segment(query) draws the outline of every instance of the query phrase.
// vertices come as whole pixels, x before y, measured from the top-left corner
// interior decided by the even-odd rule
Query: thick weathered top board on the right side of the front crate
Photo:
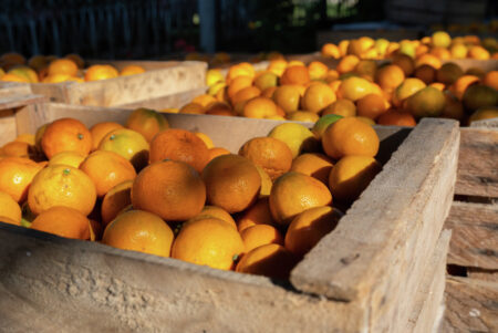
[[[334,232],[292,271],[292,283],[331,299],[366,300],[370,330],[401,330],[391,323],[406,323],[448,215],[458,146],[455,122],[423,119]]]

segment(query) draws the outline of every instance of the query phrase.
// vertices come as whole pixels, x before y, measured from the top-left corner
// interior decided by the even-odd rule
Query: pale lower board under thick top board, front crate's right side
[[[443,230],[436,249],[427,263],[421,287],[415,295],[415,305],[405,332],[436,332],[444,312],[444,291],[446,282],[446,253],[448,252],[450,230]]]

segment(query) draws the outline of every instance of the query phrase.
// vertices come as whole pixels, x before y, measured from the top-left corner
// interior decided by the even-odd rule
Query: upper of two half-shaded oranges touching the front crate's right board
[[[330,191],[335,199],[354,201],[381,169],[381,165],[373,157],[344,156],[329,175]]]

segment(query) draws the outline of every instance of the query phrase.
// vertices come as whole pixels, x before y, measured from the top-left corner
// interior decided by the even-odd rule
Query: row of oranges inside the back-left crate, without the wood
[[[53,55],[34,55],[29,61],[18,53],[0,56],[0,81],[21,83],[87,82],[144,73],[139,65],[127,65],[118,72],[110,64],[96,64],[84,69],[77,54],[58,59]]]

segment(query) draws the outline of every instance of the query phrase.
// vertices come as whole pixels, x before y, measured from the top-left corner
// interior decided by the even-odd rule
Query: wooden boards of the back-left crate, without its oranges
[[[127,64],[137,64],[147,72],[104,81],[33,83],[30,86],[33,93],[48,96],[52,102],[115,106],[206,85],[207,64],[204,62],[116,61],[112,64],[118,70]],[[11,83],[0,82],[0,89],[6,84],[10,85]]]

